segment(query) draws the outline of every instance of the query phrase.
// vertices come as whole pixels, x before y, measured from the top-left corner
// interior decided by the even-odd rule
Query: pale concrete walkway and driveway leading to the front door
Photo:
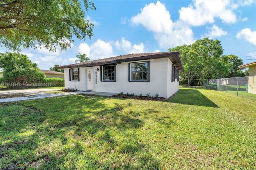
[[[46,91],[56,91],[56,90],[58,89],[25,89],[25,90],[0,91],[0,95],[14,94],[14,93],[24,93],[28,95],[33,95],[30,97],[14,97],[14,98],[8,98],[8,99],[0,99],[0,103],[31,100],[31,99],[41,99],[46,97],[58,97],[58,96],[66,96],[66,95],[74,95],[74,94],[101,95],[101,96],[112,96],[112,95],[118,94],[118,93],[105,93],[105,92],[96,92],[96,91],[75,91],[70,93],[58,93],[58,94],[52,94],[52,93],[46,92]]]

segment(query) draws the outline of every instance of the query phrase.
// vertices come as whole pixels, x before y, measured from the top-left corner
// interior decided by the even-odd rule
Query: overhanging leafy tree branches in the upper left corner
[[[83,0],[85,10],[94,3]],[[19,50],[21,46],[62,50],[79,39],[91,38],[93,24],[85,20],[80,0],[1,0],[0,45]]]

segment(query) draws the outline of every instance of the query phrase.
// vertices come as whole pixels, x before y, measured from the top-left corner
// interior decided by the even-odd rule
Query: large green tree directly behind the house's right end
[[[180,51],[184,65],[184,73],[180,75],[188,79],[188,86],[195,77],[206,80],[225,77],[228,73],[228,67],[221,57],[223,48],[219,40],[204,38],[191,45],[177,46],[168,50]]]

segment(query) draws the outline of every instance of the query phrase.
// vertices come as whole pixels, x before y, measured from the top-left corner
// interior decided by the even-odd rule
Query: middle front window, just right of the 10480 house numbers
[[[101,81],[116,81],[116,65],[101,66]]]

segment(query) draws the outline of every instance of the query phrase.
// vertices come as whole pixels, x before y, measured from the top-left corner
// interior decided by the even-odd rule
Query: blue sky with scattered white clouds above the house
[[[224,55],[244,63],[256,61],[256,0],[95,0],[86,12],[94,24],[91,40],[77,40],[71,49],[22,49],[40,69],[128,53],[164,52],[209,37],[220,40]],[[9,51],[0,47],[0,52]],[[253,60],[254,59],[254,60]]]

